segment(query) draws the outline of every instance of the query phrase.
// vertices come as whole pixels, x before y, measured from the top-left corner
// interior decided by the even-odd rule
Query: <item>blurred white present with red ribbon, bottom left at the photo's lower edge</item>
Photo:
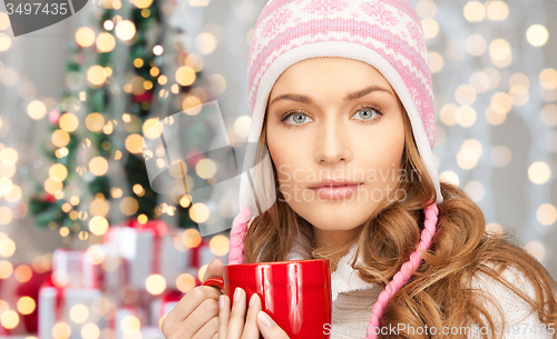
[[[69,288],[45,281],[39,290],[39,339],[82,338],[81,331],[107,327],[101,308],[102,292],[96,288]]]

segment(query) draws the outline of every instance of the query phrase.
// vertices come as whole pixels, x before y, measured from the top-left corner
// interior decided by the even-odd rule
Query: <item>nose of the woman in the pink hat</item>
[[[350,132],[341,119],[325,119],[315,136],[315,162],[335,164],[352,160]]]

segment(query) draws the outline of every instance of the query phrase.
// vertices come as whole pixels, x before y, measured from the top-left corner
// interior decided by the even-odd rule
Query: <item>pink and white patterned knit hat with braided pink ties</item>
[[[431,150],[436,112],[429,57],[416,10],[408,0],[268,1],[253,30],[250,50],[252,126],[247,142],[260,140],[268,96],[282,72],[301,60],[315,57],[343,57],[367,62],[383,74],[399,96],[410,118],[418,151],[437,190],[436,203],[426,210],[426,227],[419,243],[419,248],[428,249],[437,225],[437,205],[443,200]],[[255,154],[246,153],[245,157],[246,161],[253,161]],[[228,263],[244,262],[247,223],[257,211],[245,175],[241,179],[240,208],[231,230]],[[417,250],[380,296],[371,325],[379,325],[387,301],[410,278],[407,268],[416,269],[420,262],[421,253]]]

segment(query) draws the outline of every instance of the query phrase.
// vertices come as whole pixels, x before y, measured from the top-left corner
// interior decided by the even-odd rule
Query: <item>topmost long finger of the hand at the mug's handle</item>
[[[218,300],[222,292],[209,286],[198,286],[187,292],[178,303],[168,312],[163,320],[163,328],[172,330],[179,326],[184,319],[188,318],[192,312],[205,300]],[[218,308],[217,308],[218,311]]]

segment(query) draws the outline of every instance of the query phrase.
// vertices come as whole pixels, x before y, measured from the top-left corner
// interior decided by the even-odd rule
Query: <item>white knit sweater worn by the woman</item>
[[[331,273],[333,300],[332,323],[330,326],[324,326],[324,331],[331,333],[331,339],[364,338],[373,303],[378,300],[379,295],[384,289],[379,285],[363,281],[362,279],[360,279],[358,272],[352,269],[350,263],[354,259],[356,247],[356,243],[351,247],[349,252],[339,260],[336,269]],[[286,260],[300,260],[310,258],[311,256],[304,252],[304,250],[301,246],[299,246],[297,242],[294,242]],[[361,262],[361,258],[359,258],[358,262]],[[520,273],[512,266],[509,266],[502,272],[502,276],[514,286],[518,287],[519,290],[525,291],[530,298],[535,297],[532,286],[528,283],[522,273]],[[499,306],[504,311],[505,320],[509,326],[506,331],[504,328],[497,331],[502,333],[504,339],[554,338],[554,336],[550,333],[553,332],[553,330],[546,329],[546,327],[540,323],[538,313],[531,310],[531,307],[528,303],[526,303],[520,297],[518,297],[499,281],[492,279],[489,276],[486,276],[485,273],[478,273],[472,279],[471,288],[488,292],[489,296],[494,298],[494,300],[499,302]],[[499,312],[497,311],[496,307],[489,302],[486,302],[485,307],[489,310],[495,325],[502,325],[502,320],[500,319]],[[544,331],[544,329],[546,330]],[[390,330],[391,333],[395,333],[397,329],[388,329],[385,327],[383,330]],[[420,333],[420,331],[423,331],[423,329],[418,328],[416,328],[414,330],[417,335]],[[480,338],[480,332],[489,332],[488,329],[480,329],[476,325],[463,329],[428,328],[428,333],[432,333],[433,330],[437,330],[438,335],[442,333],[443,330],[452,330],[453,333],[457,333],[457,331],[459,331],[459,333],[462,333],[461,338],[466,337],[468,339]]]

